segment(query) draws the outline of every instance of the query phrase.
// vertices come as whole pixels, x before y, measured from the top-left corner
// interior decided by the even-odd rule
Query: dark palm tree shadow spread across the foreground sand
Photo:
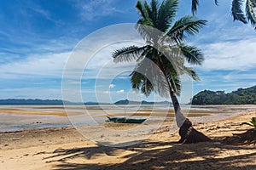
[[[144,148],[144,150],[143,150]],[[145,150],[146,148],[146,150]],[[147,148],[153,148],[147,150]],[[156,148],[156,149],[154,149]],[[134,154],[126,155],[128,158],[119,164],[101,163],[70,163],[74,158],[91,157],[105,153],[108,156],[119,156],[119,151],[134,150]],[[55,170],[74,169],[255,169],[256,162],[242,166],[244,162],[256,160],[256,152],[236,156],[219,156],[224,150],[245,150],[244,146],[232,146],[218,142],[204,142],[199,144],[177,144],[164,142],[148,142],[136,144],[125,148],[109,148],[97,146],[72,150],[55,150],[58,156],[65,159],[57,160]],[[246,150],[253,150],[247,147]],[[49,157],[50,158],[50,157]],[[48,159],[49,159],[48,158]],[[230,163],[231,162],[231,163]]]

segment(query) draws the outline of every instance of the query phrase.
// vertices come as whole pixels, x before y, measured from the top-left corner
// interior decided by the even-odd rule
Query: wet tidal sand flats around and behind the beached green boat
[[[173,122],[175,117],[172,108],[167,111],[161,105],[155,108],[144,105],[138,110],[133,105],[130,107],[130,110],[129,106],[126,109],[126,116],[144,117],[148,119],[148,123]],[[95,121],[102,124],[107,116],[124,116],[122,109],[111,109],[108,105],[103,105],[102,108],[90,105],[86,110],[77,105],[67,107],[67,111],[63,105],[0,105],[0,133],[42,127],[93,125]],[[183,114],[192,122],[201,123],[218,121],[247,111],[256,111],[256,105],[192,105],[189,110],[183,109]]]

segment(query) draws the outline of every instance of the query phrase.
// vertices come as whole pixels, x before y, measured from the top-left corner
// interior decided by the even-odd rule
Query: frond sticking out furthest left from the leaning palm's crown
[[[137,46],[119,48],[115,50],[112,54],[113,62],[118,63],[122,61],[131,61],[138,59],[141,54],[143,54],[145,48],[147,48],[147,46],[143,46],[141,48]]]

